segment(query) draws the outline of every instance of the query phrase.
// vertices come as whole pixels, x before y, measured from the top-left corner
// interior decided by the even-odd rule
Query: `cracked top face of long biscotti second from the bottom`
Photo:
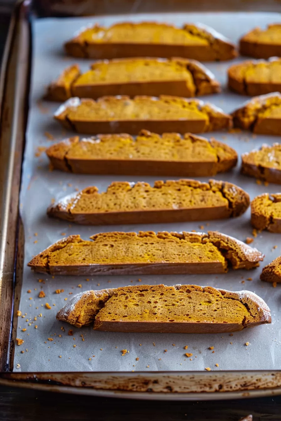
[[[89,240],[70,235],[37,254],[28,266],[49,272],[53,266],[220,262],[224,271],[259,266],[263,254],[217,231],[104,232]]]

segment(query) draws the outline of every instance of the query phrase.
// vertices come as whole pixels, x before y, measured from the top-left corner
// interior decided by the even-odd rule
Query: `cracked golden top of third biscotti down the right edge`
[[[236,127],[254,131],[255,125],[262,119],[273,117],[281,119],[281,93],[271,92],[254,96],[242,107],[232,112]]]

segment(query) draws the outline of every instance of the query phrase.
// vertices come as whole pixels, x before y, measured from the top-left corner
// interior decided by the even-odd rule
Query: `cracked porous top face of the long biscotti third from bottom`
[[[249,206],[249,195],[235,184],[217,180],[209,180],[208,183],[190,179],[159,180],[153,187],[140,181],[114,181],[106,192],[99,193],[98,188],[93,186],[64,197],[48,208],[48,215],[221,206],[229,210],[229,217],[240,216]]]

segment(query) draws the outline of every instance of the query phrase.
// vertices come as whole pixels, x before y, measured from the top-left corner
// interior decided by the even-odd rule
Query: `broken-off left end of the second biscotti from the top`
[[[49,101],[66,101],[72,97],[73,82],[80,76],[78,64],[64,69],[61,75],[48,88],[45,99]]]

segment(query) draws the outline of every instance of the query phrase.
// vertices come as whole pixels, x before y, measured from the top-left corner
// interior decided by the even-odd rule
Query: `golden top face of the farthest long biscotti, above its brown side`
[[[181,28],[158,22],[120,22],[110,27],[95,24],[82,28],[65,44],[65,49],[68,54],[76,56],[72,46],[79,45],[80,56],[88,56],[87,46],[99,44],[194,45],[209,48],[213,60],[229,60],[237,56],[235,45],[230,40],[201,23],[184,24]]]

